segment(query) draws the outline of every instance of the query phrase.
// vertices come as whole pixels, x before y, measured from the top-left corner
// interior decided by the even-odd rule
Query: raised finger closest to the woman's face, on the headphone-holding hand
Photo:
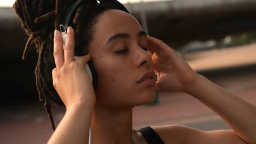
[[[67,28],[67,41],[64,49],[65,63],[71,63],[74,61],[74,29]]]

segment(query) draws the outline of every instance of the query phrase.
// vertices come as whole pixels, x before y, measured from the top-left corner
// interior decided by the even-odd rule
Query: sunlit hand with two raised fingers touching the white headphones
[[[91,56],[79,57],[74,61],[74,30],[68,27],[67,42],[63,50],[62,37],[55,31],[53,85],[61,100],[68,107],[75,104],[95,104],[95,93],[85,65]]]

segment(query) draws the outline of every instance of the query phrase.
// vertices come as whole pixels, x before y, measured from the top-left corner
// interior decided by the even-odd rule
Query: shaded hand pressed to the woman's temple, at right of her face
[[[158,75],[159,92],[184,92],[198,76],[187,62],[159,39],[148,36],[148,49]]]

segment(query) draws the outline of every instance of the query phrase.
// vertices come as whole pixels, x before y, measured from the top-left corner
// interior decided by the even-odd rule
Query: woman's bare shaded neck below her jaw
[[[94,143],[133,143],[132,108],[96,104],[91,119],[91,144]]]

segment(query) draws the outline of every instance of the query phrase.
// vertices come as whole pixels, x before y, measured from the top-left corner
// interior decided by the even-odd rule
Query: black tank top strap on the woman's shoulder
[[[141,128],[138,131],[144,136],[148,144],[165,144],[151,127]]]

